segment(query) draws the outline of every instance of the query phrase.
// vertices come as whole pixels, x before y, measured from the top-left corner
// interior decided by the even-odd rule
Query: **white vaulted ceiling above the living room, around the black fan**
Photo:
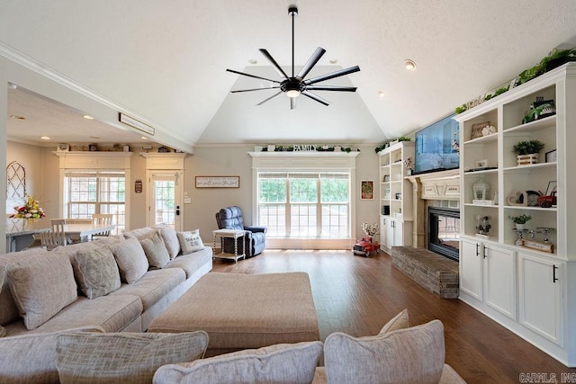
[[[0,3],[4,48],[127,106],[191,146],[382,142],[437,121],[556,46],[576,46],[573,0]],[[260,48],[291,70],[290,4],[299,8],[296,67],[320,46],[327,53],[309,77],[358,65],[360,72],[322,83],[354,85],[356,94],[318,92],[328,107],[300,97],[293,111],[284,95],[256,106],[274,90],[229,94],[270,84],[226,68],[279,79]],[[415,71],[402,67],[406,58],[416,61]],[[20,135],[11,125],[9,137]],[[73,133],[78,129],[67,131]],[[74,138],[58,141],[91,141]]]

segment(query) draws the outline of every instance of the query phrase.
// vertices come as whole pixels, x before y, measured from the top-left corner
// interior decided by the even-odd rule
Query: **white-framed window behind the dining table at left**
[[[116,230],[124,229],[124,172],[67,172],[64,186],[67,219],[92,219],[94,213],[112,213]]]

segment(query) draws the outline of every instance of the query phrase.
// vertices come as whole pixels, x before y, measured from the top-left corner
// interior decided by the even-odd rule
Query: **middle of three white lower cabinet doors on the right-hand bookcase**
[[[508,249],[484,243],[484,302],[516,320],[516,258]]]

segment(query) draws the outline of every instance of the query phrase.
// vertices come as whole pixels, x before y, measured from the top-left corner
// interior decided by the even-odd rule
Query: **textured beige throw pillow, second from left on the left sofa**
[[[96,299],[120,288],[118,265],[107,246],[76,252],[72,267],[80,290],[88,299]]]

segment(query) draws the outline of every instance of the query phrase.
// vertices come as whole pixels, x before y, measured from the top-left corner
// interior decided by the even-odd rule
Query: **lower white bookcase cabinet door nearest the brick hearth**
[[[460,290],[482,301],[482,244],[461,240]]]

